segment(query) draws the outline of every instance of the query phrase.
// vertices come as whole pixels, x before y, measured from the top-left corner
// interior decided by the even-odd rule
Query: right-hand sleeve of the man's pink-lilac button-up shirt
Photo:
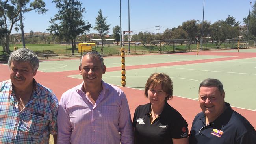
[[[133,144],[134,133],[129,105],[125,94],[121,93],[121,108],[119,112],[119,132],[121,135],[121,144]]]

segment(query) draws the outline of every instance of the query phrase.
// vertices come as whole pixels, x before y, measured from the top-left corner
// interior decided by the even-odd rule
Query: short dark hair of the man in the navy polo
[[[224,92],[223,84],[218,79],[205,79],[204,81],[202,81],[202,83],[200,83],[199,90],[201,87],[217,87],[221,94],[223,94]]]

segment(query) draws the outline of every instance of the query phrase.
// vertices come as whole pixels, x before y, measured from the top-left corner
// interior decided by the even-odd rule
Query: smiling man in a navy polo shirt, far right
[[[254,127],[225,103],[222,83],[205,79],[199,86],[202,112],[195,116],[189,144],[256,144]]]

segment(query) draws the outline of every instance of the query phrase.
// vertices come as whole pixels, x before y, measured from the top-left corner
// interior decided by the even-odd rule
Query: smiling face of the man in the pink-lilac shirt
[[[83,81],[86,85],[101,87],[102,75],[106,72],[106,66],[101,64],[98,57],[85,55],[79,66],[80,74],[83,76]]]

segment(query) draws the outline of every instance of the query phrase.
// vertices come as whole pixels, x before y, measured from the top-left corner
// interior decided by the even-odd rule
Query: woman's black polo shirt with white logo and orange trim
[[[187,138],[187,122],[167,102],[151,124],[151,103],[136,108],[133,118],[135,144],[173,144],[172,138]]]

